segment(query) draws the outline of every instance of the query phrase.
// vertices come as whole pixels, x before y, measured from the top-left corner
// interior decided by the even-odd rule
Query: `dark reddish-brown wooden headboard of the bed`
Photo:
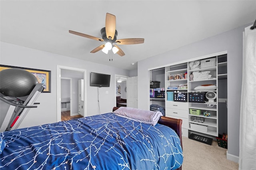
[[[113,107],[113,111],[117,110],[118,108],[119,107]],[[172,128],[178,134],[180,138],[180,144],[182,147],[182,133],[181,133],[182,119],[174,119],[170,117],[161,116],[158,123]]]

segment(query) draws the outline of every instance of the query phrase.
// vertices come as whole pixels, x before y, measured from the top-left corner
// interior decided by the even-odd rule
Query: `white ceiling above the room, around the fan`
[[[2,42],[132,70],[137,61],[254,22],[256,0],[1,0],[0,10]],[[145,42],[119,45],[126,55],[111,56],[90,53],[101,42],[68,33],[101,38],[107,12],[116,16],[117,39]]]

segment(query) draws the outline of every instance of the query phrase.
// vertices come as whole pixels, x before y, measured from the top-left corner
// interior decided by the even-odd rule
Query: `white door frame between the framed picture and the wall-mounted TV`
[[[57,122],[61,121],[61,69],[72,71],[82,71],[84,73],[84,117],[87,116],[87,99],[86,99],[86,69],[78,69],[75,67],[67,67],[63,65],[56,66],[56,103],[57,103]],[[72,93],[72,92],[71,92]],[[70,106],[71,109],[71,106]]]

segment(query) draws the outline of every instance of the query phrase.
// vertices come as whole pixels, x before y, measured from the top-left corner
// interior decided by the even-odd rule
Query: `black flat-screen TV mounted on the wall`
[[[90,86],[109,87],[110,75],[91,72]]]

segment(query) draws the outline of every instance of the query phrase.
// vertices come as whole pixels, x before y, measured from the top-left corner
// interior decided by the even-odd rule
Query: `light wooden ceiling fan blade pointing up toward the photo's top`
[[[107,38],[113,40],[116,33],[116,16],[107,13],[105,27]]]

